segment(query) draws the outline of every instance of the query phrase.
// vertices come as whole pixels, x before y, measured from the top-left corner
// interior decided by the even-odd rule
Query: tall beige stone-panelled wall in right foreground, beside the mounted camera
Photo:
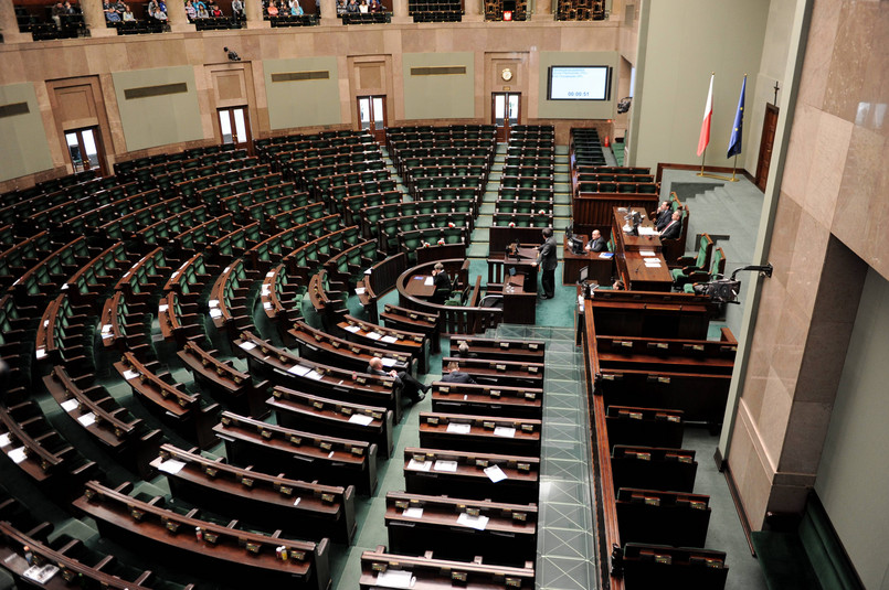
[[[728,454],[753,528],[818,472],[868,267],[889,277],[889,4],[815,0]],[[882,423],[889,416],[883,417]]]

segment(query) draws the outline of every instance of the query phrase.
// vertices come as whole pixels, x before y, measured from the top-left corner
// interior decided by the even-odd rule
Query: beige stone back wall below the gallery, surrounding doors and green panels
[[[124,117],[117,105],[113,74],[131,71],[150,71],[163,68],[190,67],[197,83],[198,105],[200,107],[201,138],[191,133],[178,143],[165,147],[167,150],[179,150],[202,143],[218,142],[218,122],[214,109],[219,106],[213,81],[209,72],[227,63],[223,47],[236,51],[245,62],[250,62],[251,125],[254,138],[268,137],[287,132],[292,124],[310,131],[314,128],[353,128],[357,112],[354,94],[357,87],[354,76],[356,64],[368,60],[380,60],[387,64],[385,82],[390,125],[399,125],[414,119],[428,119],[428,112],[405,115],[405,104],[411,97],[405,96],[402,56],[405,54],[465,53],[472,57],[472,83],[467,93],[474,99],[464,99],[458,111],[461,120],[476,122],[490,121],[490,92],[496,92],[497,79],[494,78],[493,63],[498,56],[519,55],[522,62],[523,79],[528,84],[522,100],[525,122],[538,118],[538,56],[540,52],[614,52],[617,49],[617,30],[620,22],[570,22],[557,23],[551,20],[532,22],[485,23],[463,22],[458,24],[387,24],[362,26],[313,26],[297,29],[247,29],[241,31],[213,32],[174,32],[156,35],[125,35],[102,39],[76,39],[49,42],[28,42],[20,44],[0,44],[0,87],[14,84],[32,84],[38,97],[38,105],[47,128],[46,142],[51,153],[50,162],[40,164],[41,172],[28,179],[19,176],[18,170],[10,169],[9,174],[0,173],[0,191],[10,190],[13,185],[33,184],[39,176],[45,180],[70,172],[65,152],[55,132],[53,112],[50,105],[46,82],[63,81],[76,77],[97,77],[100,94],[105,98],[107,126],[103,129],[107,135],[105,148],[109,162],[118,158],[127,159],[135,151],[142,153],[155,151],[151,141],[136,142],[127,146]],[[311,109],[322,111],[324,120],[310,121],[299,110],[290,110],[281,118],[277,109],[288,104],[287,93],[267,90],[268,73],[265,64],[279,64],[282,61],[303,62],[322,60],[335,61],[336,78],[325,87],[321,98],[313,96],[307,104]],[[286,83],[285,83],[286,84]],[[293,84],[292,84],[293,85]],[[334,90],[335,89],[335,90]],[[546,88],[543,89],[546,93]],[[466,101],[468,100],[468,101]],[[527,105],[526,105],[527,104]],[[124,109],[126,110],[126,109]],[[335,115],[338,112],[338,117]],[[452,117],[455,117],[452,114]],[[552,118],[552,117],[549,117]],[[610,117],[607,117],[610,118]],[[313,122],[310,127],[306,127]],[[575,121],[583,124],[584,121]],[[569,126],[564,119],[561,126]],[[284,127],[282,127],[284,126]],[[135,149],[134,149],[135,148]],[[35,160],[38,161],[38,160]],[[0,164],[2,165],[2,164]],[[3,172],[0,170],[0,172]],[[33,172],[25,171],[25,172]]]

